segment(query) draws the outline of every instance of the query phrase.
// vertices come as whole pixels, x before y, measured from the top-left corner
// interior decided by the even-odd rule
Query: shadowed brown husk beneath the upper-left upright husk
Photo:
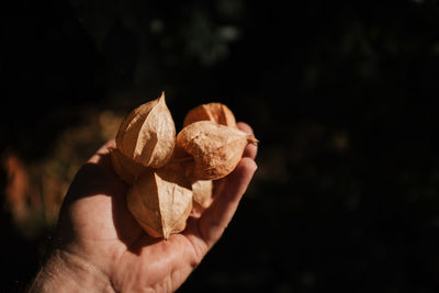
[[[136,178],[147,169],[145,166],[125,157],[116,148],[110,149],[110,156],[114,171],[128,185],[132,185]]]

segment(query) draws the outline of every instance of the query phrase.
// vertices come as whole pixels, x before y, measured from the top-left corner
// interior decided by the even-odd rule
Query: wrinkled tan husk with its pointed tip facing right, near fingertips
[[[211,121],[199,121],[177,135],[177,145],[193,157],[191,180],[215,180],[230,173],[254,135]],[[188,173],[188,172],[187,172]]]

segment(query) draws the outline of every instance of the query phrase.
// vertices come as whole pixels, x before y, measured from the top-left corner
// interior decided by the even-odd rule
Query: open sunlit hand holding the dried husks
[[[238,123],[251,133],[250,126]],[[56,245],[31,292],[173,292],[200,263],[230,222],[257,169],[248,145],[236,169],[201,217],[168,240],[148,236],[126,207],[125,185],[104,145],[79,170],[59,213]],[[217,185],[222,188],[216,188]]]

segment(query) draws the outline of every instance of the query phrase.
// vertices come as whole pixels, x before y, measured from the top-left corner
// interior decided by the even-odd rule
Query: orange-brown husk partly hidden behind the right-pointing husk
[[[222,125],[236,127],[235,115],[223,103],[207,103],[190,110],[184,117],[183,127],[198,121],[212,121]]]

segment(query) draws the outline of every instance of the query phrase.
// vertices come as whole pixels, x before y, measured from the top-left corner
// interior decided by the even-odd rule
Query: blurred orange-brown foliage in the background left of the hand
[[[38,161],[25,164],[13,153],[3,158],[5,209],[24,237],[38,237],[54,227],[75,173],[101,144],[114,137],[122,121],[112,111],[85,115],[85,122],[65,129],[53,153]]]

